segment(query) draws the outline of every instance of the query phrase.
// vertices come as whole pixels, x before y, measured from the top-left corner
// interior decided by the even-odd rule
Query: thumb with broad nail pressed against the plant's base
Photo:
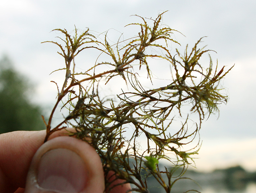
[[[102,193],[100,157],[88,143],[61,136],[45,142],[35,153],[25,193]]]

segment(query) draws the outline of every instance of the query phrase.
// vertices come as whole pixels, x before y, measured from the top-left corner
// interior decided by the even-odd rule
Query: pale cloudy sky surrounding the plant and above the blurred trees
[[[157,2],[157,3],[156,3]],[[138,22],[143,17],[164,15],[164,23],[182,32],[175,39],[182,45],[194,45],[201,37],[202,46],[217,52],[213,61],[232,71],[223,81],[230,100],[203,124],[203,145],[196,167],[212,170],[241,164],[256,170],[255,95],[256,74],[256,1],[254,0],[9,0],[0,6],[0,55],[8,55],[14,66],[36,86],[35,102],[54,103],[56,87],[49,74],[62,65],[57,46],[40,44],[57,36],[51,32],[65,28],[105,32]],[[111,30],[110,30],[111,32]],[[112,32],[115,32],[112,30]],[[137,35],[137,32],[133,35]],[[182,49],[179,49],[182,51]]]

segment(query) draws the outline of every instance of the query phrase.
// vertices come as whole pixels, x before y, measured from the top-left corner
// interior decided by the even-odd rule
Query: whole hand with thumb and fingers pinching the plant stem
[[[0,192],[103,193],[104,172],[99,155],[88,143],[64,134],[55,132],[44,144],[45,131],[1,134]],[[115,184],[120,182],[116,180]],[[129,189],[129,184],[123,184],[110,193]]]

